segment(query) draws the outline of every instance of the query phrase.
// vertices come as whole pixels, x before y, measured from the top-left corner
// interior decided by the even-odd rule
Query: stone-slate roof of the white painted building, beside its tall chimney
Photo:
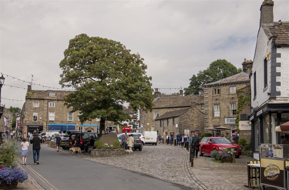
[[[268,38],[273,37],[277,45],[289,45],[289,22],[274,22],[274,25],[262,25]]]

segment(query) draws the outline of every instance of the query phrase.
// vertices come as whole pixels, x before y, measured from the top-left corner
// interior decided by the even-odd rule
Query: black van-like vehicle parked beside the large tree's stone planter
[[[74,136],[77,140],[75,147],[80,147],[81,150],[84,150],[84,145],[90,141],[90,136],[92,136],[95,141],[100,139],[99,134],[96,132],[71,132],[69,134],[69,138],[65,140],[65,144],[68,149],[71,147],[72,136]]]

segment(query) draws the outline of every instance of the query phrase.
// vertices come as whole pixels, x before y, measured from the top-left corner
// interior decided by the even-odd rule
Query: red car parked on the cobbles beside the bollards
[[[213,150],[223,151],[225,149],[231,149],[236,158],[242,155],[241,148],[224,137],[206,137],[203,138],[201,142],[200,156],[211,154]]]

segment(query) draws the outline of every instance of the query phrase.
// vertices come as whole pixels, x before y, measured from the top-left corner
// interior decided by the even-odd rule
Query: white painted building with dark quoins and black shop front
[[[289,121],[289,22],[273,21],[272,0],[261,5],[260,29],[251,80],[252,144],[259,159],[260,143],[281,144],[285,134],[275,126]]]

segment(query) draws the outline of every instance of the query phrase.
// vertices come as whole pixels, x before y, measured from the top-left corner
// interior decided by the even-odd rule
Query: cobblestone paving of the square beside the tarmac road
[[[67,150],[60,152],[69,154]],[[76,156],[201,190],[248,190],[244,187],[248,183],[247,162],[253,161],[253,158],[241,156],[236,158],[236,163],[215,163],[209,155],[204,155],[195,158],[194,167],[190,167],[189,152],[185,148],[162,144],[145,145],[141,152],[125,156]]]

